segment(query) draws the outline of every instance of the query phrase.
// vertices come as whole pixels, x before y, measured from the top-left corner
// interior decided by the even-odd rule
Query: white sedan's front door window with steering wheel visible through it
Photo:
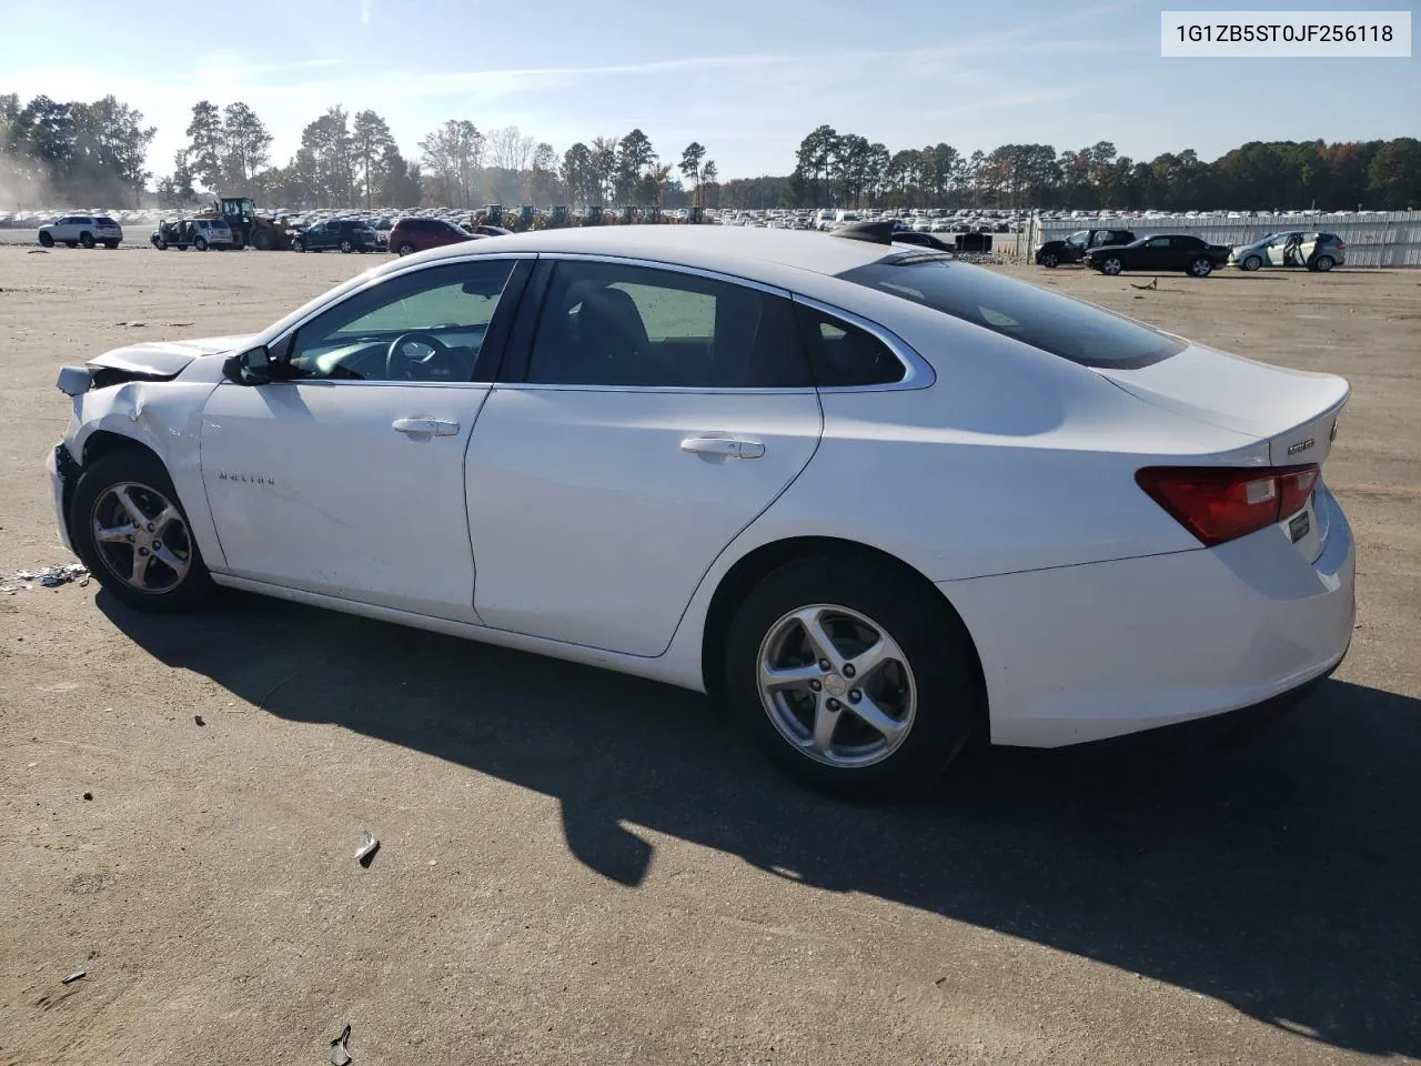
[[[490,257],[396,274],[297,330],[287,361],[298,378],[470,381],[513,266]]]

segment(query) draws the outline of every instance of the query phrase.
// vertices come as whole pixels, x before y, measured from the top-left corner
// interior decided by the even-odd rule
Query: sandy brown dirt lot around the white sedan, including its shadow
[[[0,574],[65,561],[61,362],[369,266],[0,247]],[[1358,628],[1297,712],[850,807],[685,692],[244,596],[0,593],[0,1063],[321,1063],[347,1022],[361,1065],[1421,1053],[1421,274],[1020,273],[1351,379]]]

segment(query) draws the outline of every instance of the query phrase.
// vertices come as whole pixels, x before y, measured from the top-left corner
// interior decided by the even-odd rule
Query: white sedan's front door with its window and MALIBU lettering
[[[381,279],[274,345],[293,379],[217,387],[202,476],[230,573],[476,620],[463,458],[514,263]]]

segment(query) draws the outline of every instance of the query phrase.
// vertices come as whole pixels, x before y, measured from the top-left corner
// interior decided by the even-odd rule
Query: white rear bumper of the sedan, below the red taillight
[[[1215,549],[946,581],[982,658],[992,741],[1059,748],[1268,704],[1341,662],[1351,530],[1330,493],[1309,563],[1269,527]]]

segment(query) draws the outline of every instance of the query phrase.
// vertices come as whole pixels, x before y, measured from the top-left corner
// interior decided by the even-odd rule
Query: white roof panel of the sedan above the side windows
[[[827,233],[726,226],[578,226],[513,233],[468,244],[449,244],[419,253],[423,262],[469,254],[507,252],[583,253],[666,262],[745,277],[772,286],[790,286],[794,274],[840,274],[898,256],[901,249],[865,240],[843,240]],[[409,260],[405,260],[406,263]],[[381,270],[398,269],[401,260]]]

